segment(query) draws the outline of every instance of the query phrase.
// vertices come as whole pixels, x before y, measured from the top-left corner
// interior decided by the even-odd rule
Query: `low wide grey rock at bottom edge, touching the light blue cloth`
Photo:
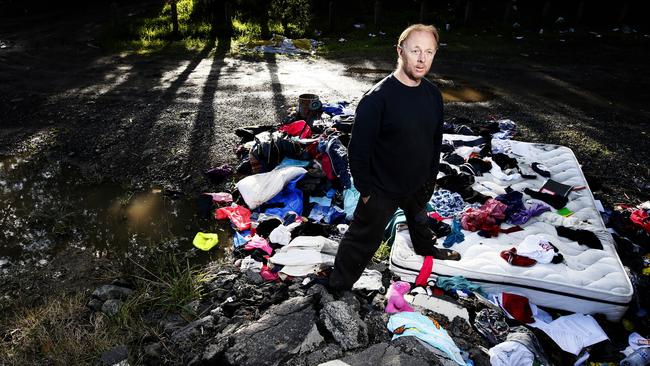
[[[409,365],[454,366],[456,362],[442,351],[421,342],[416,337],[400,337],[391,342],[375,344],[360,353],[320,364],[320,366]]]

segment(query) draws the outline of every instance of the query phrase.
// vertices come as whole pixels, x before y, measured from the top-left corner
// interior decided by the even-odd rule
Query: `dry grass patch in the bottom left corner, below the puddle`
[[[154,319],[172,313],[187,320],[197,317],[188,304],[203,296],[203,272],[172,254],[146,267],[132,263],[134,293],[113,317],[87,308],[90,298],[84,293],[54,295],[43,305],[27,304],[3,314],[0,364],[95,364],[102,352],[117,345],[136,349],[144,339],[163,339]]]

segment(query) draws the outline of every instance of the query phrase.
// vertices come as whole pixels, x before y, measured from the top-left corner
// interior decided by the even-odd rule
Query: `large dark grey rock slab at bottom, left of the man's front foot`
[[[312,331],[315,317],[309,297],[295,297],[272,306],[258,321],[232,334],[233,345],[225,352],[226,363],[279,365],[291,351],[300,348]]]

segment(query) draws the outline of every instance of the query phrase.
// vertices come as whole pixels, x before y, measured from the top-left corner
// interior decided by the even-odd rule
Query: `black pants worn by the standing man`
[[[371,196],[367,203],[360,199],[350,227],[339,244],[330,286],[339,290],[352,288],[381,245],[384,229],[398,207],[404,210],[415,252],[434,255],[437,249],[434,233],[428,225],[426,200],[424,192],[398,200],[378,195]]]

